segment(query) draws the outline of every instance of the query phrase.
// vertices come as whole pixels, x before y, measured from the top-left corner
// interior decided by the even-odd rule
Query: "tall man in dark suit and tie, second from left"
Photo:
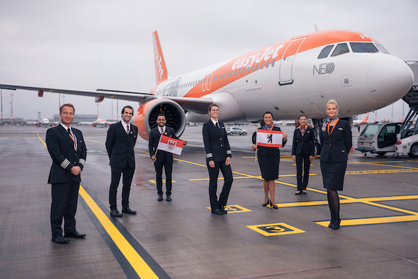
[[[132,178],[135,170],[134,146],[137,142],[138,128],[130,124],[134,109],[129,105],[122,109],[122,120],[111,124],[107,130],[106,150],[109,155],[111,166],[111,183],[109,190],[110,215],[122,217],[116,206],[116,193],[118,192],[119,181],[123,174],[122,188],[122,212],[136,214],[129,207],[129,194]]]

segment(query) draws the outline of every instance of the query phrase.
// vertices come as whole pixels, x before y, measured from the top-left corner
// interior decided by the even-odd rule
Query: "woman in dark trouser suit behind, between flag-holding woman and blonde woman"
[[[295,195],[307,194],[309,167],[315,156],[315,131],[307,125],[307,116],[299,116],[300,126],[293,133],[292,159],[296,162],[297,192]],[[303,165],[303,180],[302,180]]]

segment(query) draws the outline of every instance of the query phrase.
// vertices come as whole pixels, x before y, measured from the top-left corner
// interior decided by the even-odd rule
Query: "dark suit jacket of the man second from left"
[[[125,123],[124,123],[125,125]],[[138,128],[130,124],[130,133],[127,134],[122,121],[111,124],[107,130],[106,150],[109,155],[111,167],[124,168],[129,163],[131,169],[135,168],[134,146],[137,143]]]

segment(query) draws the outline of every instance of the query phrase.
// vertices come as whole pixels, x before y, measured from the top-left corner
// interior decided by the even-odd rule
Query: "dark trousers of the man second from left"
[[[123,168],[111,167],[111,183],[109,190],[109,203],[111,211],[116,209],[116,194],[118,193],[119,181],[121,181],[122,174],[122,208],[125,209],[126,207],[129,207],[130,185],[132,183],[132,178],[134,177],[134,170],[135,169],[129,167],[128,163]]]

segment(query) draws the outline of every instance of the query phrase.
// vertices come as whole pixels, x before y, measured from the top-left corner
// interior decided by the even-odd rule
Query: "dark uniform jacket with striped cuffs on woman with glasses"
[[[232,157],[224,123],[221,121],[218,121],[218,123],[219,128],[213,125],[210,119],[203,124],[202,132],[206,151],[206,163],[211,160],[222,162],[226,160],[226,157]]]

